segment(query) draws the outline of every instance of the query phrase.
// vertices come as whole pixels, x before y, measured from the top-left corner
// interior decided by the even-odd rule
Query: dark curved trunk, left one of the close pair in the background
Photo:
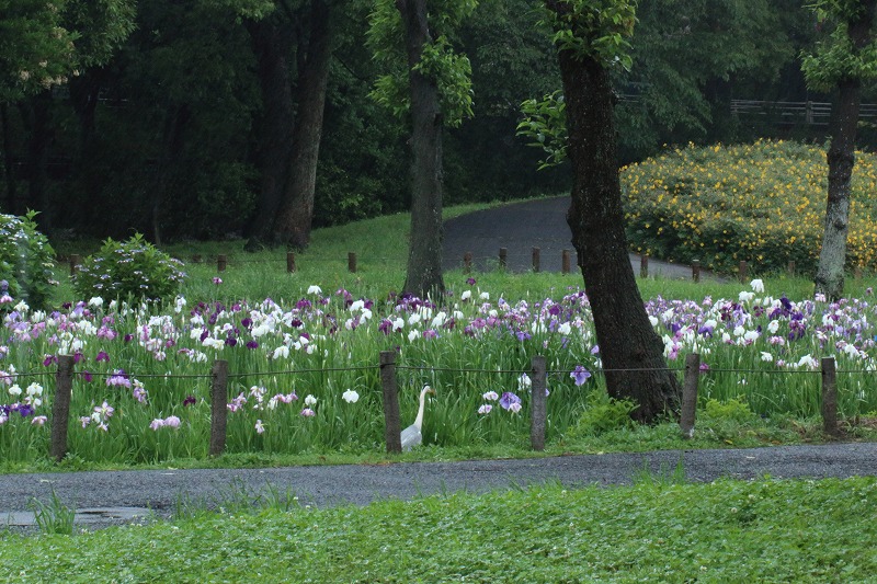
[[[247,251],[258,251],[271,239],[274,214],[283,198],[293,149],[293,90],[289,80],[292,34],[272,20],[248,23],[258,59],[262,90],[262,119],[257,165],[261,173],[259,204],[250,226]]]

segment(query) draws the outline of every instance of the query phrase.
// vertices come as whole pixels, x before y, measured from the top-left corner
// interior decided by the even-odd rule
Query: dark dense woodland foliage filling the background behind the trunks
[[[278,23],[288,45],[278,53],[288,57],[292,91],[299,81],[307,3],[198,0],[183,9],[160,0],[140,2],[136,15],[132,2],[123,0],[56,2],[60,14],[38,2],[4,4],[14,7],[11,16],[2,13],[10,38],[26,36],[27,26],[64,25],[64,39],[75,38],[77,53],[66,56],[55,47],[54,57],[45,59],[43,41],[0,50],[4,90],[9,85],[0,99],[3,213],[39,210],[41,227],[52,237],[75,230],[118,239],[136,230],[150,241],[159,233],[167,241],[248,236],[266,220],[257,217],[259,160],[271,146],[264,128],[272,121],[261,89],[267,79],[260,70],[263,55],[253,34],[265,19]],[[514,136],[520,104],[543,100],[559,87],[550,34],[537,25],[538,4],[481,2],[447,37],[471,66],[475,114],[446,133],[449,204],[568,188],[566,169],[535,172],[538,152]],[[630,70],[618,68],[615,79],[625,161],[652,154],[662,142],[820,134],[804,126],[771,127],[755,116],[736,118],[729,105],[731,98],[822,98],[804,93],[796,60],[812,44],[809,12],[791,0],[714,4],[640,3],[629,39]],[[33,14],[15,20],[25,9]],[[344,10],[350,18],[334,19],[316,226],[409,204],[408,136],[368,96],[385,72],[363,48],[373,7],[351,2]],[[435,57],[436,66],[447,65],[444,51]],[[72,66],[77,77],[68,71]],[[20,87],[22,71],[34,82],[27,91]],[[55,89],[45,91],[37,82],[43,73],[69,82],[53,81]],[[464,102],[457,105],[468,108]]]

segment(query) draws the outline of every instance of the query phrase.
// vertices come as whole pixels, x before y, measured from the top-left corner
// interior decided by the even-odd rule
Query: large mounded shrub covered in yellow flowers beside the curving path
[[[815,273],[825,215],[822,148],[794,141],[676,148],[622,169],[627,237],[653,257],[731,273],[789,261]],[[856,152],[847,267],[877,271],[877,157]]]

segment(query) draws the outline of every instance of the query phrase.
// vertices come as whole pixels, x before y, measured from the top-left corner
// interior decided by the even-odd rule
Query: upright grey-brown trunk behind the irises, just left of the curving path
[[[405,291],[442,300],[442,130],[438,87],[414,66],[431,42],[425,0],[396,0],[402,15],[411,88],[411,241]]]

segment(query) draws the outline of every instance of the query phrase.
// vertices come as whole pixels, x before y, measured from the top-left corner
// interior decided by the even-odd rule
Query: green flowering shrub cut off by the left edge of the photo
[[[58,284],[53,279],[55,250],[37,231],[35,216],[0,215],[0,296],[45,309]]]

